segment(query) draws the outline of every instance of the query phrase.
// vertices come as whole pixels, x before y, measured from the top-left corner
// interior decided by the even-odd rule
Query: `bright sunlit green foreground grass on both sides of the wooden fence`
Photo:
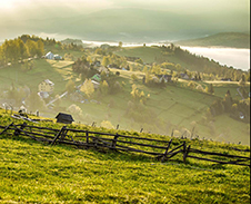
[[[19,123],[0,109],[0,124],[11,122]],[[133,132],[127,132],[130,134]],[[250,156],[232,149],[247,148],[241,145],[188,143],[194,148]],[[192,158],[183,164],[181,155],[160,163],[141,154],[50,146],[7,134],[0,135],[0,203],[250,203],[249,167]]]

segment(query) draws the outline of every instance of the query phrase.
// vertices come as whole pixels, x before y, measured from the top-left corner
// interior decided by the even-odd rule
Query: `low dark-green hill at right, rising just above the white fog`
[[[242,32],[221,32],[205,38],[177,41],[175,45],[192,47],[231,47],[249,48],[250,33]]]

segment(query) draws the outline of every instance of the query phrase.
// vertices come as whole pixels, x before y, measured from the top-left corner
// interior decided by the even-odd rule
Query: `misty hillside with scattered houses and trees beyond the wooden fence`
[[[78,42],[78,43],[77,43]],[[173,43],[127,47],[22,35],[1,45],[3,109],[249,145],[250,71]]]

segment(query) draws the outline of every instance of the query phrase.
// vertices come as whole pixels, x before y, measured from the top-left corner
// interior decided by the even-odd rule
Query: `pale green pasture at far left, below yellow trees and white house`
[[[66,84],[74,74],[71,71],[72,61],[56,61],[37,59],[31,70],[21,70],[20,65],[13,65],[0,69],[0,89],[8,90],[13,84],[16,87],[28,86],[31,90],[38,91],[38,85],[50,79],[54,82],[54,93],[61,94],[66,89]]]

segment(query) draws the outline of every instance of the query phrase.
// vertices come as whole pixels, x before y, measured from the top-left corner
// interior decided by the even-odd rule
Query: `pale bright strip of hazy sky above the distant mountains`
[[[23,12],[24,16],[20,17],[29,14],[36,17],[36,13],[39,17],[40,13],[44,13],[41,8],[46,9],[46,12],[53,12],[56,17],[111,8],[143,8],[183,13],[219,11],[250,13],[250,0],[0,0],[0,2],[2,13],[16,16]]]

